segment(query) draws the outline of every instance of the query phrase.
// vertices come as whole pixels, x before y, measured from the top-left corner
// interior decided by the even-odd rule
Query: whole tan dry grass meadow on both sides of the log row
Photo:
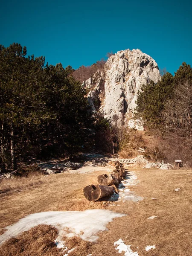
[[[120,238],[125,244],[131,244],[139,256],[192,255],[192,170],[135,169],[140,183],[131,190],[144,200],[137,203],[120,201],[118,206],[104,206],[102,202],[88,202],[83,198],[84,185],[92,183],[104,172],[49,175],[36,188],[8,193],[0,201],[1,228],[29,213],[106,207],[127,215],[109,223],[108,231],[100,233],[96,243],[90,244],[79,238],[68,241],[69,249],[74,244],[76,246],[69,256],[89,253],[92,256],[124,255],[119,254],[113,245]],[[177,187],[181,188],[179,192],[175,192]],[[158,217],[149,220],[152,215]],[[155,245],[156,249],[146,252],[147,245]]]

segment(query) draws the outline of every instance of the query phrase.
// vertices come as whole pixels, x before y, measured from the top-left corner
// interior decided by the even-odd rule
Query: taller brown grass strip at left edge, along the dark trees
[[[19,191],[42,183],[43,174],[41,172],[30,172],[27,177],[13,177],[12,179],[0,180],[0,193],[8,191]]]

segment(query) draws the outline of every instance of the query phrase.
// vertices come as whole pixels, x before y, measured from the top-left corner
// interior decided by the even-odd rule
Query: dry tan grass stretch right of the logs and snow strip
[[[95,244],[97,256],[116,255],[113,242],[119,238],[131,244],[140,256],[191,256],[192,171],[140,169],[136,172],[140,183],[131,190],[144,200],[113,207],[113,211],[125,212],[127,216],[114,219],[108,224],[109,231],[101,233]],[[179,192],[175,192],[177,187],[181,189]],[[152,215],[158,217],[149,220]],[[156,249],[146,252],[147,245],[155,245]]]

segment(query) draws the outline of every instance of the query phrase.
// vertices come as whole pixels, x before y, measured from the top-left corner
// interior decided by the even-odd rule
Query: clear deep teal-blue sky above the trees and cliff
[[[141,49],[161,69],[192,65],[190,0],[1,1],[0,44],[78,68],[107,52]]]

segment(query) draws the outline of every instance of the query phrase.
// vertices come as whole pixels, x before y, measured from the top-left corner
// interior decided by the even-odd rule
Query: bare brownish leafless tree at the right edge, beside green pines
[[[169,161],[192,159],[192,84],[179,83],[163,111],[162,151]]]

